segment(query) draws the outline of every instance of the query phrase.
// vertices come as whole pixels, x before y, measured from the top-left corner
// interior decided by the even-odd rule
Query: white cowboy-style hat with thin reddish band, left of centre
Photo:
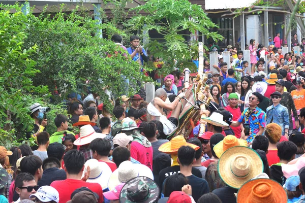
[[[105,138],[106,134],[96,132],[91,125],[84,125],[80,128],[80,137],[74,141],[74,145],[83,146],[90,144],[94,139]]]

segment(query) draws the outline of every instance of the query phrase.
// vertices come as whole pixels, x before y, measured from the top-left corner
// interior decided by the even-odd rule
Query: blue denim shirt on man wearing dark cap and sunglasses
[[[267,108],[267,122],[266,124],[271,123],[271,119],[273,117],[272,123],[277,123],[282,128],[282,135],[285,134],[285,129],[289,129],[289,113],[288,109],[281,104],[275,106],[270,106]]]

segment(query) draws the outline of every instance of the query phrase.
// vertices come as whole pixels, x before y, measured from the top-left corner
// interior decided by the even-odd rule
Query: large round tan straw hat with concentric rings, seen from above
[[[225,151],[218,161],[219,176],[228,186],[235,189],[263,173],[263,170],[262,159],[249,147],[232,147]]]

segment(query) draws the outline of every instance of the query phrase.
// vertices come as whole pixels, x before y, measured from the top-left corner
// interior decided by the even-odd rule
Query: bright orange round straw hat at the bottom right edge
[[[254,179],[243,184],[237,192],[237,203],[287,203],[285,189],[271,179]]]

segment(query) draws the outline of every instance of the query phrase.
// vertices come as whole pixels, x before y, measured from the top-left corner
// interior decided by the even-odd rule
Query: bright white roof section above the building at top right
[[[257,0],[205,0],[205,10],[240,9],[252,6]]]

